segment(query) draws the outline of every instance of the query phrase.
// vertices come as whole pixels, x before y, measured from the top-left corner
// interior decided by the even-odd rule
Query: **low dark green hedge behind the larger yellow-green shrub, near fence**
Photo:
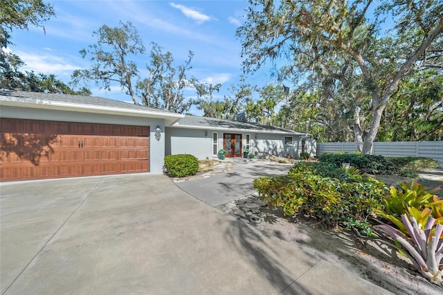
[[[326,152],[320,156],[320,161],[332,163],[337,167],[341,167],[342,163],[350,163],[351,166],[359,169],[362,173],[372,175],[397,175],[400,172],[399,166],[389,158],[373,154],[361,154],[360,152],[336,154]]]

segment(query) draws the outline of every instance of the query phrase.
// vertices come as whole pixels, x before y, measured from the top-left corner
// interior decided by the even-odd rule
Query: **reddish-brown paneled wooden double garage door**
[[[0,180],[149,172],[149,127],[1,118]]]

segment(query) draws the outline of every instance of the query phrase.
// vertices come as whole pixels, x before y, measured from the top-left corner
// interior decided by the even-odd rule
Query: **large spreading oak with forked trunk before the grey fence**
[[[249,2],[237,29],[245,71],[275,62],[281,80],[333,102],[364,153],[401,81],[430,68],[441,73],[441,0]]]

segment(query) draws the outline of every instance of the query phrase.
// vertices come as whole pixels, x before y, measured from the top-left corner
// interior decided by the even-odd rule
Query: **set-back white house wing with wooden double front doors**
[[[225,150],[226,157],[242,157],[245,150],[260,158],[316,154],[316,142],[306,132],[199,116],[185,116],[166,127],[165,141],[166,154],[193,154],[198,159],[217,158],[219,150]]]

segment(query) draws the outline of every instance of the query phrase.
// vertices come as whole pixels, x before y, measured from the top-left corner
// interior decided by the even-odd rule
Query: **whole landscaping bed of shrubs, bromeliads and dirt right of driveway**
[[[406,170],[397,165],[401,159],[360,154],[320,161],[296,163],[286,177],[254,180],[268,204],[260,229],[395,294],[443,294],[441,248],[431,246],[441,238],[442,201],[430,190],[443,185],[442,168]]]

